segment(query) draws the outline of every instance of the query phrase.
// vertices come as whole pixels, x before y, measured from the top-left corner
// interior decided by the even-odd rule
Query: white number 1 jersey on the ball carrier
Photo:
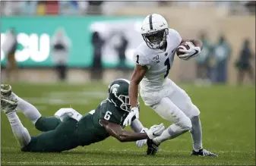
[[[164,83],[167,82],[175,49],[182,42],[182,37],[176,30],[169,29],[166,41],[167,48],[165,52],[160,49],[150,49],[146,42],[142,42],[134,52],[134,62],[148,68],[140,83],[140,87],[144,91],[160,90]]]

